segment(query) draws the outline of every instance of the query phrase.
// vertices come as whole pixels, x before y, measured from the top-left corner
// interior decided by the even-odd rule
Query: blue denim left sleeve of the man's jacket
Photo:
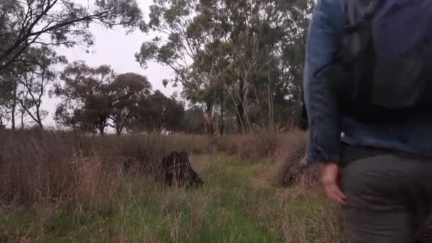
[[[342,43],[345,0],[318,0],[308,28],[303,79],[308,112],[306,163],[340,161],[338,94],[332,84],[341,82],[332,68]],[[305,163],[305,161],[303,161]]]

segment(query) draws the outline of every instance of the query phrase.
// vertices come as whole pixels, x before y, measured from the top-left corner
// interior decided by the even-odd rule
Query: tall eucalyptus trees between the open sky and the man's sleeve
[[[296,119],[301,104],[303,43],[313,3],[155,1],[141,29],[161,36],[144,43],[136,59],[144,67],[156,60],[174,70],[171,82],[181,83],[183,97],[204,107],[207,132],[215,131],[214,114],[223,106],[239,131],[284,126]]]

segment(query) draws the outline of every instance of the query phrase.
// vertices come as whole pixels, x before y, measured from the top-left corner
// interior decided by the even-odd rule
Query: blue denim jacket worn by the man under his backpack
[[[330,63],[340,49],[346,0],[318,0],[306,43],[303,80],[309,138],[301,166],[339,162],[341,141],[352,146],[375,146],[432,156],[432,119],[411,116],[406,121],[365,124],[342,116],[329,75],[316,71]],[[345,81],[346,82],[346,81]]]

